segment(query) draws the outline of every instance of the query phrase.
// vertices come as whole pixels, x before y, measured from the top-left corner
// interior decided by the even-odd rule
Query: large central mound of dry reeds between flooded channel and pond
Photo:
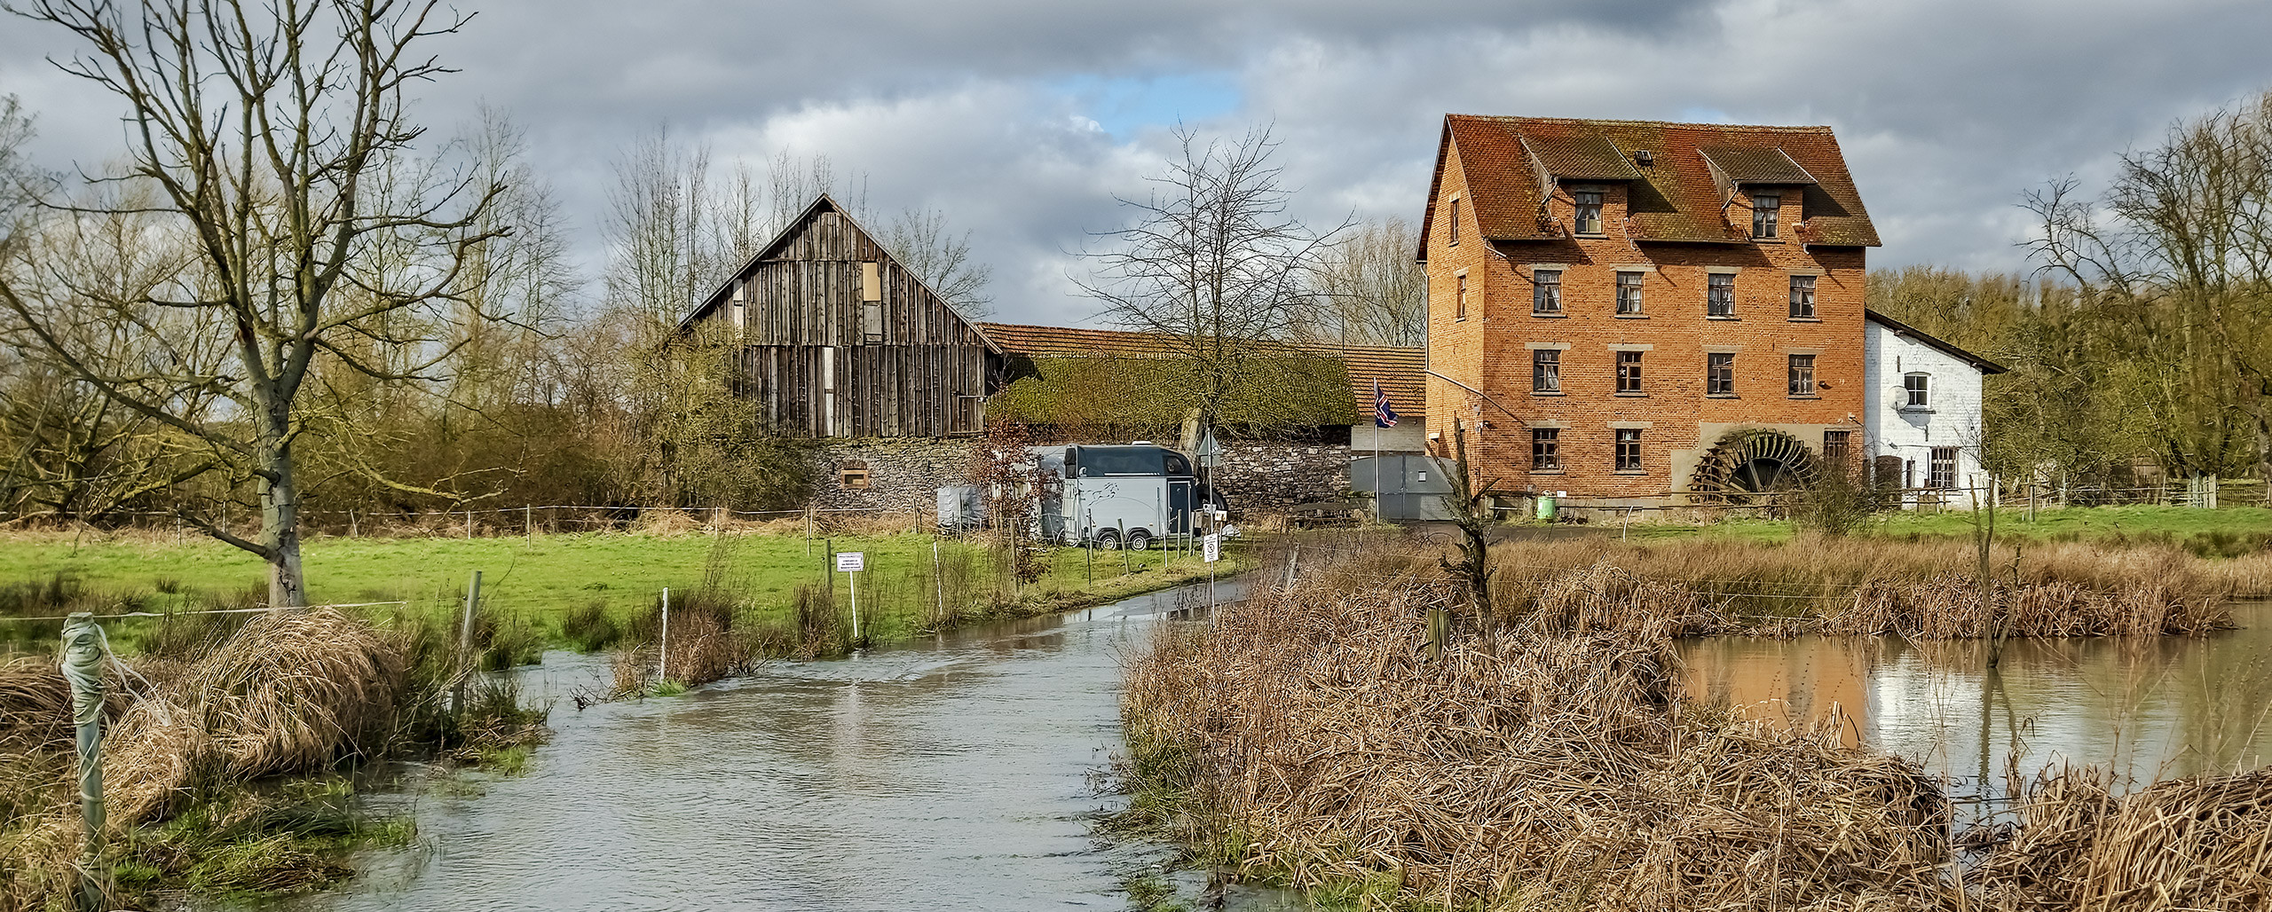
[[[1465,628],[1443,585],[1272,590],[1127,669],[1138,776],[1247,873],[1445,907],[1949,907],[1947,801],[1906,760],[1674,703],[1663,637]],[[1611,624],[1615,626],[1615,624]],[[1368,896],[1365,903],[1390,896]]]

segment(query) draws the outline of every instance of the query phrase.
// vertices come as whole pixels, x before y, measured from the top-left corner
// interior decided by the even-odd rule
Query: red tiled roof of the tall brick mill
[[[1465,168],[1470,206],[1490,240],[1559,238],[1561,229],[1538,218],[1540,193],[1556,179],[1624,179],[1629,231],[1636,240],[1747,240],[1749,225],[1727,218],[1729,195],[1745,184],[1781,184],[1804,193],[1806,220],[1795,238],[1840,247],[1879,245],[1829,127],[1450,113],[1443,118],[1443,150],[1436,154],[1422,238],[1429,236],[1436,186],[1443,184],[1454,147]],[[1604,147],[1618,152],[1618,163],[1634,161],[1636,152],[1649,152],[1652,163],[1631,168],[1636,177],[1622,177],[1604,159]]]

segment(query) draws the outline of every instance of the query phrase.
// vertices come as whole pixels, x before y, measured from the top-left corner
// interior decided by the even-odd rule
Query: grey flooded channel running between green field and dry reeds
[[[416,842],[259,907],[1125,910],[1129,878],[1170,853],[1095,833],[1118,805],[1097,771],[1122,749],[1120,656],[1175,599],[775,662],[668,699],[563,699],[523,776],[373,792],[375,810],[416,817]],[[523,676],[563,694],[607,662],[554,651]],[[1170,880],[1193,889],[1193,873]]]

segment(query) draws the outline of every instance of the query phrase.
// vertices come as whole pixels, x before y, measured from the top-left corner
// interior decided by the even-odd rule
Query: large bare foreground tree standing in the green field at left
[[[432,315],[395,318],[450,302],[468,247],[484,240],[470,225],[498,193],[438,172],[375,186],[391,168],[416,170],[411,150],[425,129],[407,116],[404,86],[448,73],[418,48],[463,18],[436,0],[23,0],[7,9],[84,43],[57,64],[127,104],[127,177],[150,181],[150,209],[193,238],[177,288],[80,318],[159,327],[161,315],[179,315],[204,338],[225,338],[229,358],[161,349],[166,358],[107,363],[68,329],[70,315],[34,306],[14,286],[0,288],[0,304],[20,338],[80,381],[198,442],[200,474],[250,481],[257,535],[204,510],[184,520],[261,556],[273,606],[304,606],[302,392],[327,363],[414,379],[448,356],[423,331]],[[100,200],[77,209],[120,211]],[[373,263],[382,250],[398,261]],[[225,408],[184,415],[177,404],[200,390],[225,397]]]

